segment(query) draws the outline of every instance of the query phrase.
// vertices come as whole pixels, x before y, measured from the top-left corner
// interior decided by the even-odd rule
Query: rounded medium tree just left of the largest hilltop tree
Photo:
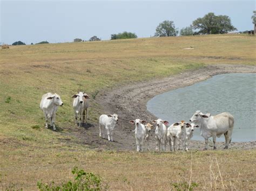
[[[173,21],[165,20],[164,22],[160,23],[156,28],[156,33],[154,36],[156,37],[170,37],[170,36],[177,36],[178,29],[175,28]]]

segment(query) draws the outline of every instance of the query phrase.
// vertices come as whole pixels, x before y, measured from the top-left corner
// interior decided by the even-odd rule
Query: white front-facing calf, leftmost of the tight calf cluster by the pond
[[[131,120],[129,123],[135,124],[135,139],[137,145],[137,151],[140,152],[143,150],[143,141],[146,137],[146,129],[144,123],[146,121],[141,121],[140,119]]]

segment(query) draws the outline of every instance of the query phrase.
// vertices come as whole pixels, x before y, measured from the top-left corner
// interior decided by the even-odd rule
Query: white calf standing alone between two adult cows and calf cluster
[[[99,137],[102,137],[102,131],[101,131],[101,126],[105,126],[105,129],[107,131],[107,139],[111,142],[113,141],[113,130],[114,127],[116,126],[118,122],[118,115],[113,114],[113,115],[101,115],[99,117]],[[104,134],[103,134],[104,138]]]

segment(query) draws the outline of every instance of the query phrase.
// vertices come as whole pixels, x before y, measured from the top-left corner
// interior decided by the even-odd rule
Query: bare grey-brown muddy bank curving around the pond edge
[[[193,83],[204,81],[213,75],[227,73],[256,73],[256,67],[221,64],[206,65],[203,68],[187,70],[182,74],[165,77],[164,79],[154,79],[146,82],[127,84],[114,89],[100,91],[96,97],[96,102],[101,105],[104,113],[116,113],[119,116],[119,123],[113,135],[114,142],[107,142],[106,139],[100,139],[97,136],[98,125],[95,124],[95,128],[90,128],[90,131],[94,131],[95,133],[93,133],[93,135],[95,134],[96,136],[91,137],[91,141],[87,140],[86,144],[92,145],[92,142],[94,145],[93,147],[95,148],[134,151],[136,148],[136,142],[134,132],[131,131],[134,129],[134,126],[128,122],[136,118],[144,119],[146,121],[156,119],[155,116],[147,111],[147,101],[166,91],[190,86]],[[197,109],[195,108],[195,111],[196,110]],[[211,141],[209,146],[209,149],[211,150]],[[191,140],[189,147],[191,150],[201,150],[204,147],[204,142]],[[223,147],[224,143],[218,142],[217,139],[217,149],[222,149]],[[151,150],[154,150],[155,148],[154,133],[150,136],[150,148]],[[244,150],[256,148],[256,142],[231,142],[230,148]],[[169,146],[167,146],[167,150],[169,150]]]

